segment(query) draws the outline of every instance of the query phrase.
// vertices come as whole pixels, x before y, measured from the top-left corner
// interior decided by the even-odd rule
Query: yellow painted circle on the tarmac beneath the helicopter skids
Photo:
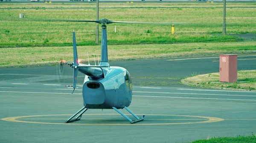
[[[84,114],[84,116],[88,115],[119,115],[119,114]],[[8,118],[2,118],[3,121],[11,121],[11,122],[19,122],[19,123],[41,123],[41,124],[58,124],[58,125],[171,125],[171,124],[192,124],[192,123],[212,123],[212,122],[219,122],[223,121],[222,118],[216,118],[216,117],[207,117],[207,116],[194,116],[194,115],[164,115],[164,114],[146,114],[144,121],[141,121],[139,123],[131,124],[129,121],[127,123],[81,123],[81,121],[72,122],[72,123],[51,123],[51,122],[38,122],[34,120],[61,120],[61,122],[66,121],[65,119],[58,119],[58,118],[35,118],[35,117],[52,117],[52,116],[68,116],[68,115],[29,115],[29,116],[17,116],[17,117],[8,117]],[[195,121],[195,122],[180,122],[180,123],[146,123],[148,116],[160,116],[160,117],[183,117],[182,119],[175,119],[175,118],[157,118],[157,119],[150,119],[151,121],[175,121],[175,120],[184,120],[184,121],[195,121],[195,120],[202,120],[202,121]],[[34,118],[32,118],[34,117]],[[187,117],[187,118],[184,118]],[[189,118],[189,119],[188,119]],[[32,121],[26,121],[26,120],[32,120]],[[119,120],[119,119],[109,119],[109,118],[89,118],[87,119],[84,117],[84,119],[81,120]],[[124,118],[124,120],[126,120]],[[149,119],[148,119],[149,120]],[[79,123],[80,122],[80,123]]]

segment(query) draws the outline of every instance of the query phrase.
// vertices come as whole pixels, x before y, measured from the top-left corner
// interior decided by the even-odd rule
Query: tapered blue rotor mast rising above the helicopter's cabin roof
[[[107,44],[107,26],[102,25],[102,45],[101,45],[101,62],[102,66],[109,66],[108,64],[108,44]]]

